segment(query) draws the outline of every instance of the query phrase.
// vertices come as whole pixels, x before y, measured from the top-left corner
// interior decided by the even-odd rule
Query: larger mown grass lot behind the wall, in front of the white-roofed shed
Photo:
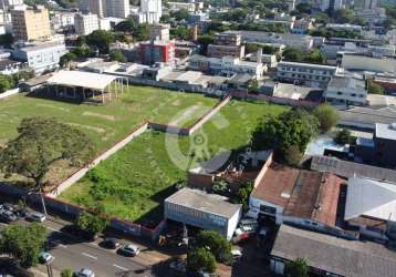
[[[0,146],[17,135],[22,119],[51,116],[81,129],[94,141],[97,153],[101,153],[146,120],[181,126],[184,121],[175,119],[201,116],[216,103],[217,99],[201,94],[148,86],[131,86],[123,95],[118,94],[118,99],[105,105],[17,95],[0,101]],[[60,163],[52,168],[48,178],[56,184],[74,170]]]

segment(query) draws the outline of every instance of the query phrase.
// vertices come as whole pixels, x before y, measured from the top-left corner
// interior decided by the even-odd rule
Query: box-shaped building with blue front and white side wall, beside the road
[[[166,219],[216,230],[227,239],[231,239],[242,214],[242,205],[191,188],[181,188],[166,198],[164,209]]]

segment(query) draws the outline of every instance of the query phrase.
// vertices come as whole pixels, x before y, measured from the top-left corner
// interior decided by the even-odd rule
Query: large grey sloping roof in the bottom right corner
[[[271,255],[304,257],[311,267],[348,277],[394,277],[396,253],[371,242],[346,240],[281,225]]]

